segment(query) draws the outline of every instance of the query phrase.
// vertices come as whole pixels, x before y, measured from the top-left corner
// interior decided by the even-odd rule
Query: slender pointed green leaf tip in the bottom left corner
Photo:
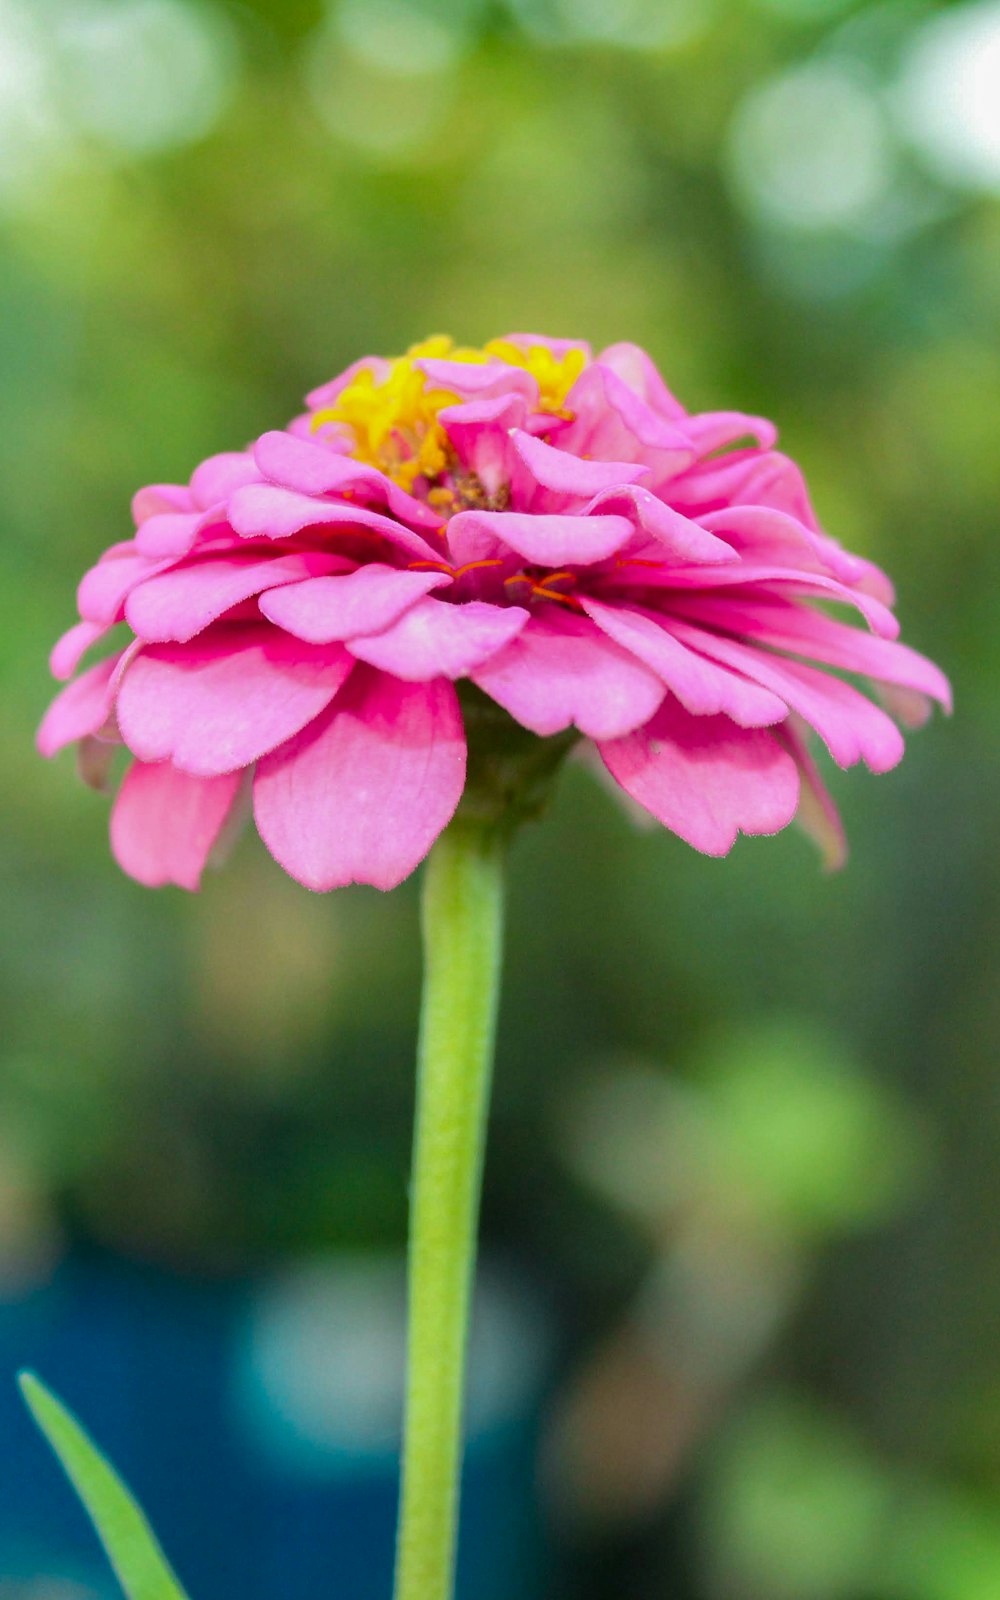
[[[32,1373],[21,1373],[18,1382],[83,1501],[128,1600],[187,1600],[138,1502],[77,1419]]]

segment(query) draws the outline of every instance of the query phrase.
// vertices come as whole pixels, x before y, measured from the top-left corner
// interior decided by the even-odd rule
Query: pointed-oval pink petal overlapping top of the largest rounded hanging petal
[[[509,645],[523,629],[528,613],[520,606],[469,600],[419,600],[384,634],[350,638],[349,651],[382,672],[408,683],[427,678],[462,678]]]

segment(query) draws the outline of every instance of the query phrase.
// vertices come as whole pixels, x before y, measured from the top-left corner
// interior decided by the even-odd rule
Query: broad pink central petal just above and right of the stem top
[[[592,739],[616,739],[648,722],[664,685],[584,616],[539,606],[518,637],[474,683],[538,734],[576,725]]]

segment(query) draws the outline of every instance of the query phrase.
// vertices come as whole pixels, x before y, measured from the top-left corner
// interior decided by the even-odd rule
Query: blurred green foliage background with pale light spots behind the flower
[[[78,573],[362,352],[634,339],[778,419],[958,709],[834,774],[838,877],[582,770],[517,845],[483,1234],[554,1330],[547,1592],[1000,1595],[998,195],[997,0],[0,0],[0,1326],[80,1254],[405,1237],[414,885],[126,882],[32,749]]]

